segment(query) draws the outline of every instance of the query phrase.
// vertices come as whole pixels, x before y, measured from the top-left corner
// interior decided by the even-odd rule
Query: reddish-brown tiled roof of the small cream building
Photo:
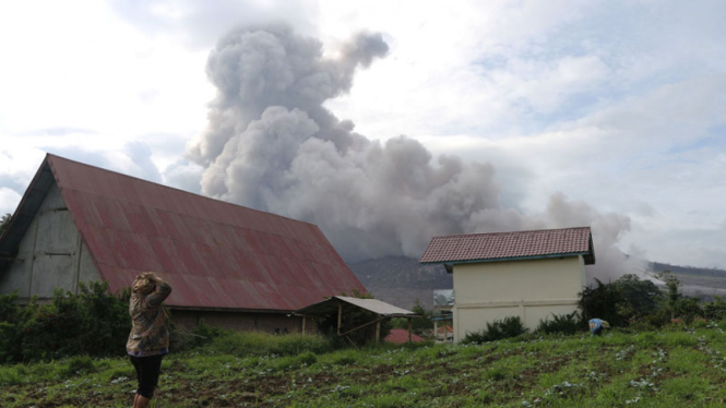
[[[590,227],[433,237],[419,262],[491,262],[552,255],[583,255],[586,264],[594,264]]]

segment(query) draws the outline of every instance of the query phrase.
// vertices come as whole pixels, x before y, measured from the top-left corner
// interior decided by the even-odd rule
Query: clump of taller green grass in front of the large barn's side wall
[[[305,351],[317,355],[332,350],[322,336],[287,334],[273,335],[262,332],[228,332],[214,338],[205,351],[235,356],[297,356]]]

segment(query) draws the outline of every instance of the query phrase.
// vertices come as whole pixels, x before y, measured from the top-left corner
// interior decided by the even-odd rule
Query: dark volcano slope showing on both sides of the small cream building
[[[432,290],[453,288],[453,278],[442,265],[421,265],[413,257],[388,256],[348,266],[377,299],[408,310],[416,300],[431,309]],[[647,273],[666,269],[683,283],[687,295],[704,299],[711,295],[726,296],[726,271],[652,262]]]

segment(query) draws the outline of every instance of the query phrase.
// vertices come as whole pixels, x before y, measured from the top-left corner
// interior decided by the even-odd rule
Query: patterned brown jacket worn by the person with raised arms
[[[144,296],[131,293],[129,314],[131,334],[126,344],[129,355],[135,357],[165,355],[169,349],[169,317],[164,310],[164,299],[171,293],[165,281],[156,285],[156,290]]]

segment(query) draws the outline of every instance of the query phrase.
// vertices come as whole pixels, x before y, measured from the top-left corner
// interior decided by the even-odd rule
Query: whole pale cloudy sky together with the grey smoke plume
[[[621,253],[726,268],[723,15],[719,0],[3,2],[0,213],[52,153],[313,221],[346,259],[592,221]],[[335,81],[295,88],[310,72]]]

